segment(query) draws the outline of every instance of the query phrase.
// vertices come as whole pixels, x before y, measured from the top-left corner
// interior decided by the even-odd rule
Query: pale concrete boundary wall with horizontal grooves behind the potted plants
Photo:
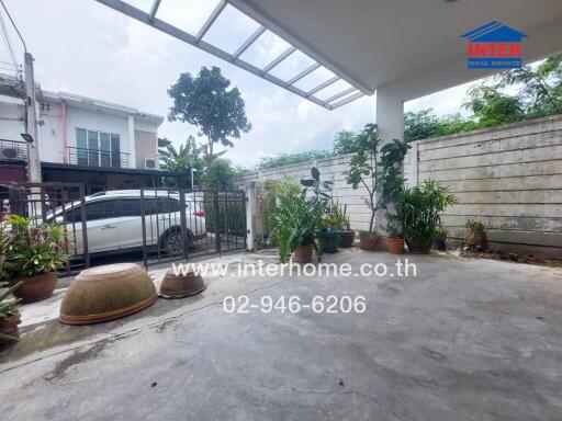
[[[334,197],[348,205],[351,227],[366,229],[367,190],[352,190],[344,175],[350,158],[280,167],[243,181],[300,180],[316,166],[335,182]],[[562,115],[414,141],[404,173],[409,185],[432,179],[458,196],[443,216],[451,242],[464,238],[472,218],[486,224],[492,248],[562,258]]]

